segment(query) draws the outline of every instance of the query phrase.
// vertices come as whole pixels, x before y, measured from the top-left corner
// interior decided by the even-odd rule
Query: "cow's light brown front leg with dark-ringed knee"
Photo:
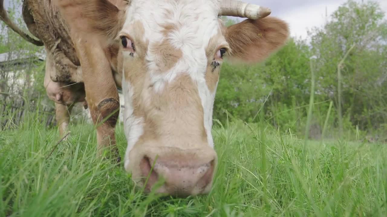
[[[117,162],[120,156],[115,141],[115,125],[120,110],[118,91],[110,62],[103,43],[98,37],[77,40],[77,52],[86,90],[87,106],[97,130],[98,154],[113,154]]]

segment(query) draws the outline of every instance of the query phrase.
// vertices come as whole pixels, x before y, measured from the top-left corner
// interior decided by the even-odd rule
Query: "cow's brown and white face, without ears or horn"
[[[193,10],[195,9],[195,10]],[[125,169],[151,171],[159,192],[208,192],[217,156],[211,135],[219,68],[229,45],[207,0],[134,0],[119,37],[123,54]]]

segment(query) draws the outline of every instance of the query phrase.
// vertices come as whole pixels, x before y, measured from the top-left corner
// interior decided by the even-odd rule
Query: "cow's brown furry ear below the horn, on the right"
[[[245,63],[257,63],[283,46],[289,28],[283,20],[265,17],[243,20],[226,29],[226,41],[231,48],[229,58]]]

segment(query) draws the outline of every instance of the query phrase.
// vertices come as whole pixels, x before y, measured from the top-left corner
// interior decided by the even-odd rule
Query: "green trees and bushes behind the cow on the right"
[[[232,23],[233,20],[227,22]],[[256,122],[259,117],[256,115],[263,109],[267,124],[280,131],[290,129],[301,136],[310,102],[311,70],[314,70],[315,104],[310,136],[320,137],[328,119],[328,137],[355,138],[356,134],[369,134],[373,139],[383,137],[387,131],[385,12],[377,2],[349,0],[322,27],[309,31],[308,36],[307,40],[291,38],[264,63],[224,64],[214,118],[224,122],[228,111],[235,118]],[[351,46],[353,49],[341,65],[339,81],[339,62]],[[333,108],[327,117],[330,102]],[[342,129],[338,129],[340,116]]]

